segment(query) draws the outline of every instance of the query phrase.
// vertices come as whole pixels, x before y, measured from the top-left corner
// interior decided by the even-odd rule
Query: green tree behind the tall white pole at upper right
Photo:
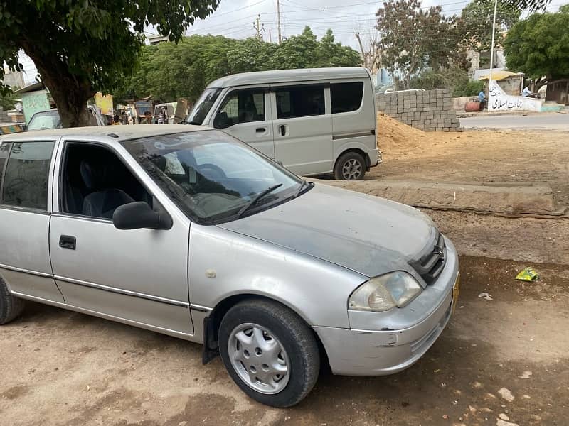
[[[496,36],[501,31],[508,31],[519,21],[521,9],[505,0],[498,1],[496,9]],[[494,19],[494,1],[473,0],[467,4],[457,20],[459,33],[464,39],[463,45],[472,50],[489,50],[492,40],[492,20]],[[501,44],[500,41],[496,42]]]

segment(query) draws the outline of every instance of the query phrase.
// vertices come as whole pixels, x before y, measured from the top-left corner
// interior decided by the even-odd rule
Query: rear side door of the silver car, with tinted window
[[[0,275],[16,295],[63,303],[48,244],[55,146],[49,138],[0,145]]]

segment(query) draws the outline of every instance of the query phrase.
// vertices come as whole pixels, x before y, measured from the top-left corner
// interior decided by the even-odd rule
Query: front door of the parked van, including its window
[[[268,87],[231,89],[213,116],[213,127],[275,158]]]

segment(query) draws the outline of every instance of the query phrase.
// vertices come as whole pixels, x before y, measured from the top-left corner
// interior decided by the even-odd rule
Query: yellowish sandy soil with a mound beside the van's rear
[[[378,119],[384,162],[367,179],[435,182],[547,182],[569,206],[569,132],[423,132]]]

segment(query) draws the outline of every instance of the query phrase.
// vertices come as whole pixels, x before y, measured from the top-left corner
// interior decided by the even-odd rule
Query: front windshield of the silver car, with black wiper
[[[122,145],[199,224],[255,214],[310,188],[258,151],[217,130],[153,136]]]

